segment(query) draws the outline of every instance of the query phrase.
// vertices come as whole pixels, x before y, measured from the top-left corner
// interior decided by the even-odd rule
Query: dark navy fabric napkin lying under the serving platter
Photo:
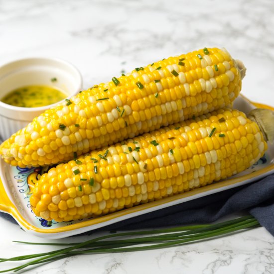
[[[96,231],[211,223],[243,210],[253,215],[274,236],[274,174],[248,185],[156,210]],[[16,223],[10,215],[0,212],[0,216]]]

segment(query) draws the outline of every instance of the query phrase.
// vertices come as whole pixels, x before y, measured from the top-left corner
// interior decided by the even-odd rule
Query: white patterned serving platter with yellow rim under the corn
[[[235,100],[233,107],[245,112],[246,114],[254,108],[274,110],[273,107],[251,102],[244,96],[239,96]],[[1,159],[0,211],[10,214],[24,231],[42,238],[58,239],[91,231],[141,214],[259,180],[274,173],[274,145],[269,144],[264,157],[253,166],[226,180],[215,182],[158,201],[123,209],[105,216],[70,222],[58,223],[54,220],[48,222],[41,217],[35,216],[31,210],[29,202],[31,189],[29,188],[28,182],[31,180],[32,176],[36,176],[43,171],[43,168],[19,168],[10,166]]]

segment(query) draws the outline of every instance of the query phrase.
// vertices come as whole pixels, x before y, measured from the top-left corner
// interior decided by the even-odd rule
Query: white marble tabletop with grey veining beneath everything
[[[0,65],[30,56],[63,58],[79,68],[88,88],[170,55],[225,46],[248,68],[242,93],[274,105],[273,13],[272,0],[0,0]],[[49,250],[12,243],[39,239],[0,222],[0,257]],[[273,258],[274,237],[257,228],[177,248],[75,256],[28,272],[270,274]]]

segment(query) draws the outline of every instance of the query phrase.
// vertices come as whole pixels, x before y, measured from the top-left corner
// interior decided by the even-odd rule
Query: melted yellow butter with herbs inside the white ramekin
[[[26,86],[9,92],[1,101],[15,107],[36,108],[57,103],[66,97],[61,90],[50,86]]]

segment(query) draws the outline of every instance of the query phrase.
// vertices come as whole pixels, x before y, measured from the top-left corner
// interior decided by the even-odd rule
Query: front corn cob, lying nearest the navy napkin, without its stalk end
[[[30,203],[46,220],[107,214],[225,179],[266,149],[257,123],[219,110],[59,164],[35,183]]]

